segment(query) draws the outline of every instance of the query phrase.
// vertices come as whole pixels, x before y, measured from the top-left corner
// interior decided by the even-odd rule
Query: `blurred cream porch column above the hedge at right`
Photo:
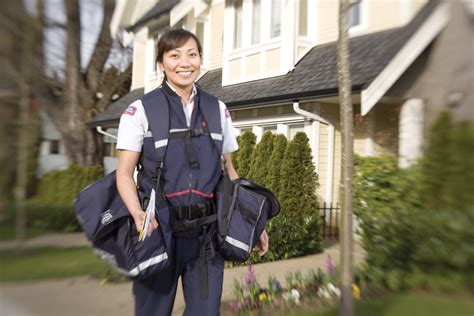
[[[400,111],[398,167],[408,168],[423,154],[424,100],[409,99]]]

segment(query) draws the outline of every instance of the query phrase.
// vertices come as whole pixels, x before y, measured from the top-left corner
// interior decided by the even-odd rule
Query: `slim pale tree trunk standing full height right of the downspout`
[[[339,3],[339,39],[337,43],[337,74],[342,130],[342,238],[341,238],[341,316],[354,315],[352,297],[352,166],[353,122],[352,83],[348,47],[349,0]]]

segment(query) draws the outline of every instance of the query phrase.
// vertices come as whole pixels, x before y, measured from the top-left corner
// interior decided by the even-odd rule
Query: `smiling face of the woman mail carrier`
[[[188,90],[201,70],[196,41],[190,37],[183,46],[165,52],[163,62],[158,62],[158,66],[175,88]]]

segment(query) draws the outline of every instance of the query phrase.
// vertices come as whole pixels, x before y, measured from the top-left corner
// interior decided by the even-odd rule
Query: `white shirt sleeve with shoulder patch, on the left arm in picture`
[[[148,119],[141,100],[130,104],[120,117],[117,149],[142,151],[143,137],[148,130]]]

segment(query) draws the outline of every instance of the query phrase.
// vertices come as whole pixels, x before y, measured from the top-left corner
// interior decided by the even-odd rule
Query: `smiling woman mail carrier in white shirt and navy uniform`
[[[190,132],[206,129],[206,118],[203,116],[205,111],[201,109],[210,106],[201,102],[205,93],[195,85],[201,68],[202,50],[199,40],[188,31],[171,30],[160,38],[157,50],[156,62],[164,73],[164,80],[162,86],[152,93],[162,93],[168,102],[170,133],[184,133],[183,137],[170,136],[170,139],[166,140],[167,149],[161,174],[164,198],[170,206],[170,214],[174,212],[170,216],[179,222],[187,219],[181,211],[178,212],[183,207],[194,210],[196,205],[204,205],[206,212],[212,212],[212,192],[222,166],[219,151],[211,139],[212,135]],[[133,173],[137,163],[146,161],[143,156],[154,151],[154,148],[150,150],[147,147],[150,143],[147,140],[149,122],[142,103],[144,100],[146,99],[142,98],[133,102],[123,113],[117,142],[117,149],[120,150],[117,187],[138,231],[143,225],[145,213],[140,205]],[[230,178],[236,179],[238,175],[232,165],[231,153],[238,149],[238,145],[233,134],[232,121],[225,104],[217,99],[215,102],[215,108],[219,109],[221,118],[222,154]],[[199,216],[191,213],[193,212],[187,216],[192,219]],[[156,219],[153,219],[148,235],[157,229],[158,225]],[[173,234],[169,268],[150,279],[134,282],[137,315],[170,315],[179,277],[182,279],[186,302],[185,315],[219,314],[224,260],[219,253],[214,255],[211,251],[212,245],[204,244],[203,236],[202,227]],[[205,248],[202,248],[203,245]],[[268,250],[268,236],[265,231],[260,236],[258,247],[261,256]],[[200,255],[203,249],[206,255],[212,252],[211,256],[205,257],[204,270],[199,261],[202,259]],[[206,275],[206,295],[203,296],[200,290],[203,287],[203,276]]]

